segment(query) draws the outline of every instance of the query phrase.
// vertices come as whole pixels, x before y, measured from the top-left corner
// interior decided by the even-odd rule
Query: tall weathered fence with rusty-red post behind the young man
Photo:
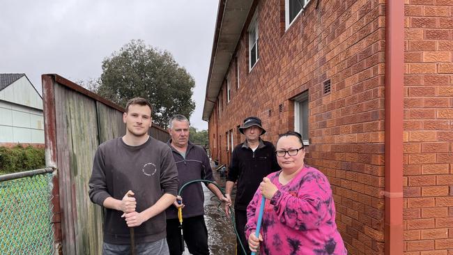
[[[58,169],[52,190],[57,249],[101,254],[102,208],[91,203],[88,182],[98,145],[125,134],[123,108],[59,75],[42,79],[46,165]],[[150,133],[161,141],[169,139],[155,125]]]

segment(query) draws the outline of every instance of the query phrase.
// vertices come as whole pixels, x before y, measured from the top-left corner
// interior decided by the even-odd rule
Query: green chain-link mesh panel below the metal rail
[[[0,183],[0,254],[52,254],[52,173]]]

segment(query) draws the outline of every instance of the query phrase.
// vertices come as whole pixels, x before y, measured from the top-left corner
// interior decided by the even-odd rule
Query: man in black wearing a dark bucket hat
[[[234,183],[238,184],[234,214],[240,240],[236,242],[242,242],[247,254],[250,254],[244,233],[244,227],[247,224],[247,206],[263,178],[279,170],[280,167],[275,156],[275,146],[270,141],[261,139],[261,135],[266,133],[261,125],[261,119],[254,116],[245,118],[243,125],[239,127],[239,132],[245,135],[245,141],[236,146],[231,155],[225,193],[227,198],[231,199]],[[228,214],[227,206],[225,211]],[[239,243],[236,247],[238,254],[243,254]]]

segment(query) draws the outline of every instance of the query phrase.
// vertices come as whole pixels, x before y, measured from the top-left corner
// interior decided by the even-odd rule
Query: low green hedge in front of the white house
[[[28,171],[45,167],[44,148],[0,147],[0,174]]]

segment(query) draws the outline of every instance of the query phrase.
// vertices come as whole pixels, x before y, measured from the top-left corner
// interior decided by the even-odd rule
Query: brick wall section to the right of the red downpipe
[[[453,1],[405,3],[404,249],[453,254]]]

